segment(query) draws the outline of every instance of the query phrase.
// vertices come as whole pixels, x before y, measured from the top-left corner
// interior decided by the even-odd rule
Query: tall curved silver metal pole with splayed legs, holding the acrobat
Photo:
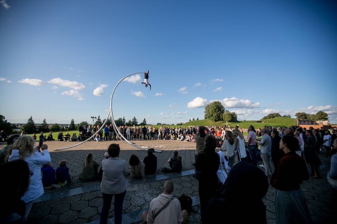
[[[114,128],[114,130],[115,130],[115,133],[119,133],[120,136],[121,136],[121,138],[120,138],[120,137],[117,135],[118,138],[120,138],[122,141],[123,141],[123,139],[124,139],[127,143],[129,143],[130,145],[132,145],[132,146],[134,146],[134,147],[136,147],[136,148],[139,148],[139,149],[142,149],[142,150],[146,150],[145,148],[142,148],[142,147],[140,147],[140,146],[137,146],[137,145],[133,144],[132,142],[129,142],[129,141],[128,141],[128,140],[127,140],[127,139],[126,139],[120,132],[119,132],[119,130],[118,130],[118,128],[117,128],[117,125],[116,125],[116,123],[115,123],[115,120],[114,120],[113,113],[112,113],[112,98],[113,98],[113,96],[114,96],[114,92],[115,92],[117,86],[118,86],[118,85],[119,85],[125,78],[127,78],[127,77],[129,77],[129,76],[132,76],[132,75],[135,75],[135,74],[143,74],[143,72],[136,72],[136,73],[129,74],[129,75],[125,76],[123,79],[121,79],[121,80],[117,83],[117,85],[115,86],[114,90],[112,91],[111,97],[110,97],[110,109],[109,109],[109,112],[108,112],[108,116],[106,117],[105,122],[104,122],[104,123],[102,124],[102,126],[97,130],[96,133],[94,133],[90,138],[86,139],[86,140],[83,141],[83,142],[80,142],[80,143],[75,144],[75,145],[72,145],[72,146],[64,147],[64,148],[56,148],[56,149],[54,149],[54,150],[57,151],[57,150],[62,150],[62,149],[73,148],[73,147],[75,147],[75,146],[78,146],[78,145],[83,144],[84,142],[89,141],[89,140],[90,140],[92,137],[94,137],[100,130],[102,130],[102,128],[104,127],[105,123],[108,121],[109,116],[111,116],[111,122],[113,123],[112,126],[113,126],[113,128]],[[122,139],[122,138],[123,138],[123,139]],[[160,150],[154,150],[154,151],[155,151],[155,152],[161,152]]]

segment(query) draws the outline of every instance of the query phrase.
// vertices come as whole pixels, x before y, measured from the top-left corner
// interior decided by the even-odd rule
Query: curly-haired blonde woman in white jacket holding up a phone
[[[41,165],[51,163],[47,149],[48,145],[43,144],[42,152],[40,152],[39,148],[35,147],[35,140],[31,136],[24,135],[14,142],[8,151],[9,162],[23,159],[33,173],[28,190],[21,198],[26,203],[26,219],[32,208],[33,201],[43,194]]]

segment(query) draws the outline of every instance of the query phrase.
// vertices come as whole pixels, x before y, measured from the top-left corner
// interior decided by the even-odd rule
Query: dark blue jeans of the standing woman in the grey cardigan
[[[123,201],[126,191],[120,194],[104,194],[103,195],[103,206],[102,206],[102,214],[101,219],[99,220],[99,224],[106,224],[108,222],[109,210],[111,207],[112,197],[115,195],[115,224],[122,223],[122,212],[123,212]]]

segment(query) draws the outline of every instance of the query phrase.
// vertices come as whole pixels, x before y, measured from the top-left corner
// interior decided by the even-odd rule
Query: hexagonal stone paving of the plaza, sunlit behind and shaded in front
[[[143,159],[146,155],[146,151],[140,149],[134,149],[128,144],[121,141],[115,141],[121,146],[120,158],[128,160],[131,154],[136,154]],[[158,158],[158,170],[167,166],[167,159],[173,155],[174,150],[178,150],[179,154],[183,158],[183,170],[191,170],[194,167],[194,149],[195,143],[180,142],[171,140],[151,140],[151,141],[134,141],[137,145],[165,145],[165,148],[158,148],[162,150],[162,153],[155,153]],[[94,159],[97,163],[101,164],[103,154],[108,148],[109,142],[88,142],[83,145],[66,149],[62,151],[53,151],[56,147],[64,147],[74,144],[73,142],[47,142],[49,145],[49,151],[52,157],[52,163],[54,168],[57,167],[57,163],[63,159],[67,160],[72,182],[68,186],[60,189],[47,189],[45,193],[51,193],[55,191],[62,191],[66,188],[76,188],[79,186],[88,186],[97,184],[97,182],[81,183],[78,178],[82,170],[82,161],[87,153],[91,152],[94,155]],[[0,145],[0,147],[3,147]],[[320,155],[323,164],[328,165],[327,168],[320,170],[320,174],[323,178],[313,179],[310,177],[308,181],[305,181],[301,188],[306,196],[312,220],[314,223],[330,223],[331,215],[336,212],[331,211],[331,186],[329,185],[326,175],[329,171],[330,159]],[[262,163],[261,161],[259,163]],[[263,168],[262,168],[263,169]],[[128,166],[126,172],[128,172]],[[185,193],[189,196],[198,195],[198,181],[193,178],[192,175],[183,176],[171,179],[175,183],[175,191],[173,195],[175,197]],[[156,197],[162,192],[162,186],[166,180],[148,182],[142,184],[129,185],[127,187],[127,193],[123,204],[123,213],[127,213],[134,210],[146,208],[151,199]],[[275,189],[269,186],[268,192],[263,199],[267,208],[267,223],[275,223],[275,208],[274,208],[274,194]],[[86,223],[100,218],[102,207],[102,196],[100,191],[92,191],[79,195],[69,196],[65,198],[59,198],[56,200],[34,203],[31,213],[29,215],[29,223]],[[192,212],[189,215],[188,223],[200,222],[200,206],[194,206]],[[112,204],[109,216],[114,214],[114,206]],[[141,222],[139,222],[141,223]],[[332,223],[332,222],[331,222]]]

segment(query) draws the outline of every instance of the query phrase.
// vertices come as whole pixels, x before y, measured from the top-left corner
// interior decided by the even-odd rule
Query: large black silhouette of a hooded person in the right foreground
[[[254,183],[249,190],[247,183]],[[238,163],[229,173],[218,196],[209,201],[205,223],[219,223],[219,214],[224,211],[238,223],[266,223],[266,207],[262,199],[268,186],[268,179],[261,169],[251,163]]]

